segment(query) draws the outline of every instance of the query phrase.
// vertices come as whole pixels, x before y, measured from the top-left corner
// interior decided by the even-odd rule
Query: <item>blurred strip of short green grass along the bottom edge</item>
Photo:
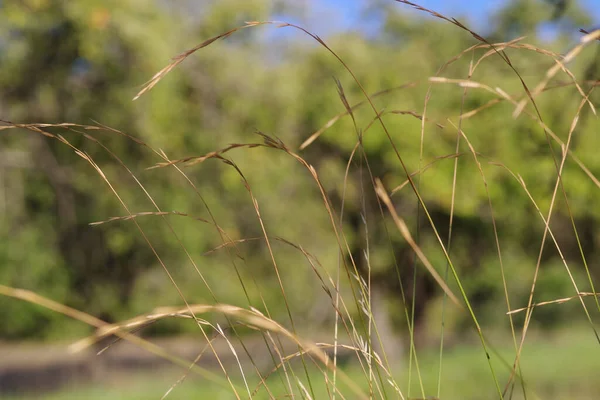
[[[497,353],[492,354],[492,361],[499,373],[501,382],[506,382],[508,378],[508,369],[502,367],[502,362],[497,354],[501,355],[507,362],[511,362],[514,351],[511,345],[505,342],[504,345],[494,348]],[[526,343],[522,356],[522,372],[526,386],[526,395],[528,399],[596,399],[600,392],[600,381],[597,379],[600,361],[594,357],[598,351],[597,343],[591,330],[585,326],[569,328],[558,331],[551,336],[536,337],[532,333],[528,344]],[[420,373],[423,382],[423,388],[426,398],[436,398],[438,381],[438,351],[437,349],[428,349],[418,352]],[[231,370],[234,369],[232,366]],[[401,389],[405,398],[419,399],[421,396],[420,384],[417,374],[413,369],[413,379],[411,392],[407,393],[405,388],[408,386],[408,369],[396,368],[400,370],[397,375],[397,383],[402,385]],[[300,370],[300,368],[298,369]],[[343,370],[355,382],[362,386],[362,389],[368,391],[368,385],[364,373],[357,365],[346,365]],[[68,400],[68,399],[151,399],[161,398],[169,388],[182,376],[181,369],[163,368],[155,371],[144,370],[144,372],[134,372],[131,370],[123,372],[113,372],[93,384],[72,384],[65,386],[62,390],[49,394],[23,394],[20,396],[3,397],[8,400]],[[330,394],[326,392],[324,386],[325,379],[319,376],[316,369],[309,372],[311,383],[316,398],[328,398]],[[247,375],[250,375],[249,373]],[[300,374],[300,378],[305,382],[305,377]],[[281,382],[279,377],[272,376],[269,383],[271,395],[275,398],[281,398],[289,393]],[[258,381],[248,377],[248,386],[250,391],[257,387]],[[241,379],[235,380],[235,385],[240,388],[238,392],[241,398],[247,398],[248,394],[243,388]],[[295,386],[292,383],[293,386]],[[343,394],[351,393],[344,384],[339,385],[339,390]],[[399,398],[391,389],[386,387],[388,398]],[[294,387],[294,391],[299,395],[299,389]],[[510,393],[510,392],[509,392]],[[477,343],[463,343],[453,346],[444,354],[443,374],[441,380],[441,399],[459,400],[459,399],[487,399],[494,398],[494,383],[490,377],[487,361],[482,356],[481,347]],[[210,398],[210,399],[230,399],[233,398],[231,387],[221,386],[215,382],[202,380],[197,376],[188,376],[181,384],[177,385],[173,391],[166,397],[168,399],[190,399],[190,398]],[[254,398],[270,398],[269,393],[264,389],[259,390]],[[346,398],[350,398],[347,397]],[[507,398],[522,399],[523,391],[517,385],[512,395]]]

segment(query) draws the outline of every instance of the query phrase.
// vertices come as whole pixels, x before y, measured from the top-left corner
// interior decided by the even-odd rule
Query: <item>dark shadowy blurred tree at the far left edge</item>
[[[144,45],[144,37],[155,41],[152,47],[155,56],[168,54],[165,35],[152,34],[153,29],[147,29],[153,24],[159,28],[165,23],[158,11],[140,11],[135,2],[3,4],[0,9],[0,18],[4,21],[0,85],[5,88],[1,96],[4,118],[19,122],[83,124],[97,118],[136,133],[142,121],[133,118],[129,98],[139,71],[132,68],[131,63],[140,58],[144,61],[138,65],[143,65],[146,71],[158,67],[147,61],[154,57],[148,54],[150,47]],[[142,32],[140,28],[147,30]],[[171,93],[175,95],[175,91]],[[82,135],[68,137],[99,163],[114,162],[102,149],[90,146]],[[152,261],[151,253],[131,230],[128,243],[117,244],[107,237],[106,229],[92,229],[87,225],[94,219],[104,218],[108,210],[115,212],[116,202],[104,193],[98,196],[98,190],[104,190],[98,187],[100,181],[90,179],[88,174],[73,173],[74,165],[82,164],[69,148],[39,135],[30,134],[26,140],[14,135],[2,139],[5,148],[24,152],[27,167],[32,168],[26,170],[27,175],[20,174],[28,178],[21,181],[22,197],[9,202],[11,209],[5,213],[7,231],[3,232],[3,242],[18,246],[22,266],[31,265],[36,270],[48,268],[46,275],[64,276],[59,282],[46,278],[38,285],[31,285],[31,282],[20,282],[18,275],[12,275],[3,283],[30,287],[43,294],[58,290],[68,304],[113,320],[127,304],[139,269]],[[141,157],[139,146],[132,146],[131,142],[114,138],[108,138],[107,142],[117,155],[128,153],[131,159]],[[111,174],[117,168],[113,164],[104,170]],[[40,196],[41,193],[45,195]],[[12,190],[6,191],[9,197],[13,194]],[[27,237],[30,239],[25,239]],[[38,237],[41,240],[36,239]],[[30,251],[29,255],[25,249]],[[46,256],[32,258],[38,253]],[[2,264],[12,263],[9,259]],[[54,267],[52,271],[50,266]],[[22,307],[7,299],[1,301],[5,312],[11,315],[18,314]],[[37,328],[21,327],[14,329],[14,333],[17,336],[43,334],[44,331]]]

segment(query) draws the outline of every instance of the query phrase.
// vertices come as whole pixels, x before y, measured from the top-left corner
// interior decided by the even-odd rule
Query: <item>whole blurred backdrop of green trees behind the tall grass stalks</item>
[[[260,143],[262,138],[255,134],[260,130],[280,138],[317,169],[338,216],[343,205],[348,249],[363,276],[371,269],[372,290],[381,295],[380,308],[387,310],[382,318],[391,327],[388,338],[392,332],[406,332],[403,310],[411,309],[414,302],[416,340],[435,345],[443,292],[422,266],[414,272],[414,253],[387,212],[382,220],[360,156],[354,158],[345,178],[357,143],[352,119],[340,118],[299,150],[312,133],[345,111],[332,77],[340,80],[351,105],[364,100],[347,71],[322,46],[290,27],[244,29],[190,56],[150,92],[132,101],[141,85],[182,51],[245,21],[285,16],[302,24],[310,18],[311,7],[310,2],[266,0],[201,5],[139,0],[2,2],[1,118],[13,123],[100,123],[139,139],[144,144],[110,131],[47,128],[93,158],[130,212],[156,211],[133,174],[161,210],[205,222],[178,215],[141,216],[136,221],[152,247],[132,221],[90,226],[128,215],[99,174],[57,140],[27,130],[3,130],[0,283],[116,322],[159,306],[183,304],[156,251],[189,303],[227,303],[263,311],[266,306],[273,319],[287,323],[288,311],[269,250],[260,239],[261,225],[238,172],[215,159],[184,167],[192,187],[174,168],[147,169],[163,161],[152,149],[171,159],[201,156],[231,143]],[[369,29],[350,26],[349,30],[328,31],[324,27],[328,31],[324,38],[368,93],[394,89],[375,97],[375,106],[385,109],[383,119],[409,171],[433,163],[415,179],[446,240],[454,173],[454,158],[446,156],[453,155],[456,146],[456,129],[448,118],[456,123],[461,110],[478,109],[498,96],[475,88],[468,90],[463,101],[464,89],[458,85],[427,80],[478,43],[469,33],[394,2],[378,3],[369,12],[364,18],[375,18],[376,28],[366,24]],[[489,21],[481,33],[491,42],[526,35],[523,43],[558,54],[578,43],[579,28],[591,30],[598,22],[577,1],[528,0],[505,2]],[[318,27],[314,33],[319,34]],[[440,76],[466,79],[469,64],[487,50],[464,53]],[[507,49],[506,53],[529,88],[554,65],[548,54],[531,49]],[[586,93],[597,85],[599,60],[600,43],[593,43],[568,64]],[[471,79],[499,87],[516,99],[524,97],[518,77],[497,55],[484,59]],[[536,98],[545,124],[563,142],[581,102],[571,82],[559,72],[550,89]],[[422,114],[428,90],[421,159],[421,121],[406,111]],[[591,91],[590,102],[597,105],[598,96]],[[507,169],[523,178],[544,215],[557,174],[544,132],[532,118],[535,110],[528,104],[526,112],[514,119],[514,108],[507,101],[492,104],[464,119],[462,129],[482,162],[509,301],[512,308],[520,308],[527,305],[531,291],[544,223]],[[380,125],[372,124],[373,111],[362,106],[354,117],[364,133],[364,151],[373,176],[380,177],[390,190],[402,184],[406,175]],[[582,253],[592,282],[598,282],[600,274],[600,203],[597,181],[590,178],[600,175],[599,128],[590,107],[583,107],[570,149],[588,173],[572,157],[567,158],[563,185],[568,203],[559,191],[551,223],[580,292],[592,291]],[[561,147],[556,141],[552,149],[560,161]],[[460,151],[450,255],[484,328],[508,334],[507,299],[486,186],[464,141]],[[338,243],[307,170],[289,155],[262,147],[234,149],[224,157],[235,162],[247,179],[269,236],[302,246],[334,276]],[[410,187],[394,193],[392,201],[413,235],[419,226],[420,246],[444,275],[445,258],[423,213],[417,211]],[[232,252],[219,248],[223,238],[213,218],[232,239],[257,239],[239,243]],[[368,221],[367,231],[363,220]],[[576,295],[556,247],[550,240],[546,243],[534,301]],[[272,246],[291,314],[302,327],[299,331],[331,331],[335,318],[331,301],[305,257],[282,241],[274,240]],[[400,296],[398,275],[407,302]],[[597,318],[593,300],[586,302],[592,318]],[[448,340],[460,342],[465,332],[472,332],[466,313],[451,306],[445,312]],[[516,315],[517,327],[522,326],[523,316]],[[74,339],[91,332],[90,327],[67,317],[6,297],[0,297],[0,321],[0,339],[7,341]],[[586,321],[581,303],[573,300],[536,309],[532,324],[550,333],[581,321]],[[144,330],[147,335],[196,332],[196,325],[180,320],[166,320]],[[591,332],[588,336],[593,338]]]

